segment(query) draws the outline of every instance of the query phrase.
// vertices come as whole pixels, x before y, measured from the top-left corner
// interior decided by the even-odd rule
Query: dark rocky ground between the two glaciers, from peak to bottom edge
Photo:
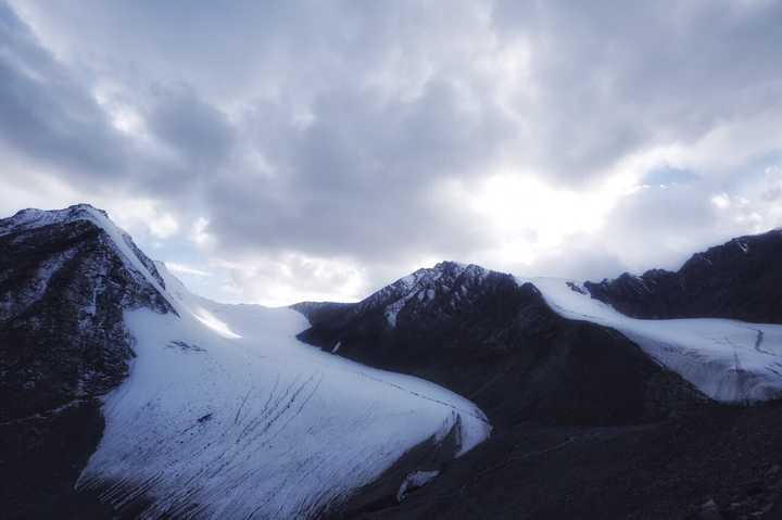
[[[508,275],[443,263],[357,304],[300,310],[301,339],[437,381],[497,427],[402,503],[358,493],[336,518],[771,519],[782,507],[782,404],[705,399]]]

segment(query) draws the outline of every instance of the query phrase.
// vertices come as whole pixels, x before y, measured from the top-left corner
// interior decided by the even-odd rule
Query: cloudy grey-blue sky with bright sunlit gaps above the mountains
[[[782,226],[782,1],[0,0],[0,215],[223,302],[579,280]]]

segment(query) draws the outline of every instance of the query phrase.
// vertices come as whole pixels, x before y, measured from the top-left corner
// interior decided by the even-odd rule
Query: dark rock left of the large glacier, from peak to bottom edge
[[[173,312],[92,212],[30,210],[0,220],[3,518],[67,518],[72,507],[74,518],[105,518],[73,484],[101,436],[97,398],[122,382],[134,355],[123,310]]]

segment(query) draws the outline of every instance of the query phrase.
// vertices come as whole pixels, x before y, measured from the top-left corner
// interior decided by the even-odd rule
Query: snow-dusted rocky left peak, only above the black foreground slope
[[[87,204],[0,220],[3,418],[100,395],[133,356],[123,313],[175,312],[154,263]]]

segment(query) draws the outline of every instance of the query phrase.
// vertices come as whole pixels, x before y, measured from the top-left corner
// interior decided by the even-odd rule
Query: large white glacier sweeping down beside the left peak
[[[461,455],[491,432],[445,389],[299,342],[295,310],[217,304],[157,269],[179,317],[125,313],[138,357],[79,487],[151,499],[144,518],[312,518],[420,442],[456,428]]]

